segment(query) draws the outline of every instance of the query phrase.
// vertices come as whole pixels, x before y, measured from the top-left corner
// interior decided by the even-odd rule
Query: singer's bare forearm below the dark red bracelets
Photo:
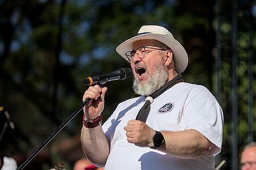
[[[109,141],[102,131],[101,125],[96,128],[82,126],[81,142],[84,153],[91,162],[105,165],[109,155]]]

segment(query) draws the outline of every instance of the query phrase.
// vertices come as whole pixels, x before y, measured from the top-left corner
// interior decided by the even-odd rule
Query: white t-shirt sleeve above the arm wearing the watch
[[[224,117],[217,100],[203,86],[191,91],[184,107],[181,122],[184,129],[195,129],[217,146],[213,151],[221,151]]]

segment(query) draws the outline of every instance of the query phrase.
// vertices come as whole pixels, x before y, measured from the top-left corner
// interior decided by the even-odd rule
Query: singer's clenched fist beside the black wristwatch
[[[154,143],[152,137],[155,134],[155,130],[147,126],[144,122],[139,120],[129,120],[126,130],[127,141],[134,143],[140,147],[152,147]]]

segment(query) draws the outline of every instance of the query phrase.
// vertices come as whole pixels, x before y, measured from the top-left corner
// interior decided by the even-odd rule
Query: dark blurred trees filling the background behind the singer
[[[247,134],[250,12],[254,12],[251,24],[255,25],[255,10],[250,10],[249,2],[253,8],[255,2],[238,2],[238,143],[242,148]],[[1,152],[14,156],[18,164],[22,163],[79,107],[87,88],[81,86],[82,79],[129,67],[129,63],[115,52],[115,47],[136,35],[141,25],[159,24],[168,28],[189,56],[189,66],[183,73],[185,80],[203,84],[212,92],[216,90],[215,9],[214,1],[203,0],[1,1],[0,104],[9,110],[16,125],[15,130],[6,133],[1,141]],[[232,143],[229,97],[232,14],[229,1],[222,1],[221,11],[221,105],[225,114],[221,156],[228,159],[225,166],[229,168],[229,145]],[[255,49],[255,38],[253,40]],[[253,73],[255,75],[255,64]],[[120,101],[135,96],[131,84],[130,78],[105,85],[108,93],[104,121]],[[69,122],[26,169],[49,169],[58,162],[72,169],[75,160],[82,156],[79,140],[76,140],[82,126],[81,117],[82,113]]]

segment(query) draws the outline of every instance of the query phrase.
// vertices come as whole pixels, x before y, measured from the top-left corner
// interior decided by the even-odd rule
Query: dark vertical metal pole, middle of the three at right
[[[237,1],[232,0],[232,169],[237,169]]]

